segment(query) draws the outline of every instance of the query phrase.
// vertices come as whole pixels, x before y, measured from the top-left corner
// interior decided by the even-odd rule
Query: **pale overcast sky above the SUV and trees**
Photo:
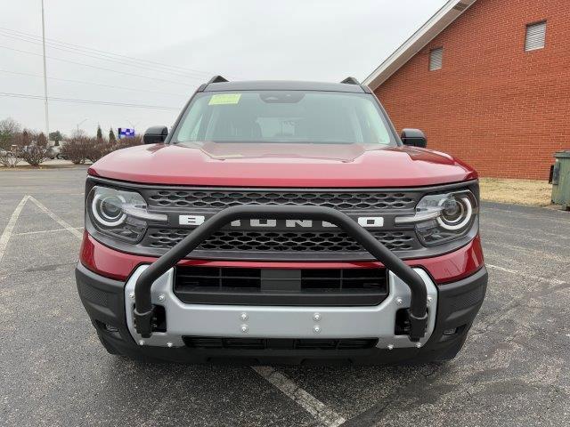
[[[147,106],[50,101],[50,130],[170,126],[215,74],[362,80],[444,3],[45,0],[48,96]],[[44,130],[44,101],[13,97],[44,93],[40,0],[0,4],[0,119]]]

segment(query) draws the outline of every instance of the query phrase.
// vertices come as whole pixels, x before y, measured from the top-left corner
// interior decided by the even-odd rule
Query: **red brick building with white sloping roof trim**
[[[570,149],[569,37],[569,0],[451,0],[364,83],[429,148],[544,180]]]

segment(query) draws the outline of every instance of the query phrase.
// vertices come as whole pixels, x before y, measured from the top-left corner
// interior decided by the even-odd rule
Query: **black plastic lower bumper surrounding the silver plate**
[[[478,270],[457,282],[437,286],[436,328],[420,349],[303,350],[303,349],[205,349],[139,346],[126,326],[125,282],[102,278],[85,269],[76,269],[77,290],[97,334],[110,353],[145,361],[180,363],[336,364],[379,365],[422,363],[452,359],[461,349],[479,310],[487,285],[487,271]],[[339,337],[342,338],[342,337]]]

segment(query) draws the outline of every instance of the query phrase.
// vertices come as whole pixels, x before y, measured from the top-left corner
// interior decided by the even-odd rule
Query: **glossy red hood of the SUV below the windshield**
[[[152,144],[119,149],[89,174],[149,184],[383,188],[476,179],[460,160],[429,149],[359,144]]]

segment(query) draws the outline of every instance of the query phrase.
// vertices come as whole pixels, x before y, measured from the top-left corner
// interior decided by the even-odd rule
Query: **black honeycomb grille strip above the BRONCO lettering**
[[[417,194],[405,192],[338,192],[338,191],[247,191],[247,190],[187,190],[147,189],[144,191],[151,206],[209,208],[221,210],[237,205],[303,205],[327,206],[343,210],[402,210],[413,209]]]

